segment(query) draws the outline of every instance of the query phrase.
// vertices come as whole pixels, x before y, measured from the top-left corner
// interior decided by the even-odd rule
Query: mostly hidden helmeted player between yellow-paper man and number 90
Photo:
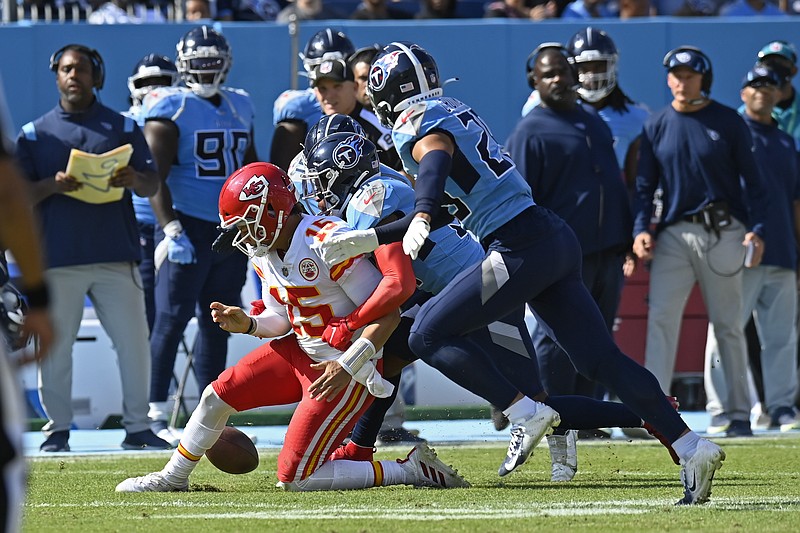
[[[159,87],[171,87],[178,83],[178,69],[168,57],[158,54],[147,54],[136,63],[133,74],[128,78],[128,90],[131,93],[131,107],[125,115],[134,119],[141,128],[144,128],[142,117],[142,100],[150,91]],[[147,325],[153,329],[156,317],[155,310],[155,265],[153,252],[155,250],[156,215],[150,206],[150,200],[132,195],[133,211],[136,214],[136,223],[139,225],[139,244],[142,246],[142,262],[139,263],[139,273],[142,275],[144,288],[144,303],[147,309]]]

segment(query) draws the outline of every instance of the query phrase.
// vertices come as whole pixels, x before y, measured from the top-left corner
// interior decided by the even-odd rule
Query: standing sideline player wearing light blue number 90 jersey
[[[228,336],[205,310],[211,302],[238,302],[247,258],[214,253],[217,201],[225,179],[257,159],[250,96],[222,87],[231,67],[230,46],[207,26],[178,43],[177,67],[186,87],[164,87],[144,101],[145,137],[162,186],[151,201],[158,218],[155,249],[156,318],[150,337],[153,367],[150,417],[154,431],[175,442],[166,405],[178,345],[197,312],[194,373],[203,389],[225,369]]]

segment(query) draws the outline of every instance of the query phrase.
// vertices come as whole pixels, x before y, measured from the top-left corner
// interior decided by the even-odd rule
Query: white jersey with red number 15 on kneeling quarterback
[[[336,217],[304,215],[283,258],[273,251],[252,259],[261,278],[264,304],[288,314],[298,344],[315,361],[341,355],[322,340],[325,325],[364,303],[382,279],[363,256],[330,269],[322,261],[318,244],[352,229]]]

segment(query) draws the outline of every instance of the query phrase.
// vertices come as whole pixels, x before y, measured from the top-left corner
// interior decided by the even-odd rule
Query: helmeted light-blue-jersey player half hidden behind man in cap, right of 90
[[[300,54],[303,73],[309,76],[314,67],[326,59],[347,59],[355,52],[355,46],[342,32],[325,28],[315,33]],[[272,134],[269,160],[272,164],[288,169],[292,158],[302,149],[301,143],[308,132],[322,117],[322,108],[309,87],[302,90],[287,90],[275,100],[272,110]]]

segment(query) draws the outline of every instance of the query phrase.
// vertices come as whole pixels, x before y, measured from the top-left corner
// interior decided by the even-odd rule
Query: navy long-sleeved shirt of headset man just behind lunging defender
[[[584,255],[628,249],[633,215],[611,130],[596,112],[537,106],[506,143],[539,205],[566,220]]]

